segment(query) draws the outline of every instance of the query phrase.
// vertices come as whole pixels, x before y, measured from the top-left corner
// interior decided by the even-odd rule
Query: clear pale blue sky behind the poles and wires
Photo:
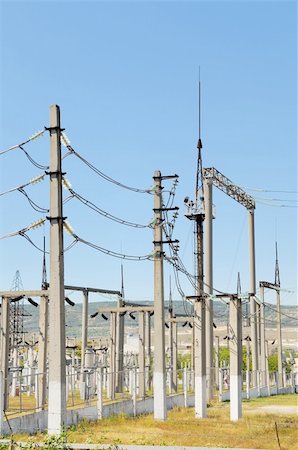
[[[281,284],[290,291],[283,292],[282,303],[296,304],[296,8],[294,1],[2,1],[0,150],[48,126],[49,106],[56,103],[72,146],[116,180],[149,188],[157,169],[179,174],[174,237],[193,272],[193,233],[183,198],[194,196],[200,66],[203,165],[239,186],[272,191],[247,191],[258,200],[257,283],[274,281],[277,240]],[[25,149],[48,164],[47,134]],[[20,150],[1,155],[0,168],[1,192],[43,172]],[[102,180],[74,156],[64,160],[63,170],[73,188],[102,209],[150,222],[151,195]],[[48,187],[46,178],[27,192],[48,208]],[[214,286],[235,292],[240,272],[247,291],[247,213],[216,189],[214,204]],[[0,236],[44,216],[18,192],[0,197],[0,212]],[[65,204],[64,215],[80,237],[107,249],[130,255],[153,249],[151,229],[111,222],[75,199]],[[48,231],[47,224],[28,235],[42,246],[45,233],[48,247]],[[65,236],[65,245],[70,242]],[[1,289],[10,288],[17,269],[25,288],[40,287],[38,250],[17,236],[1,240],[0,252]],[[65,254],[65,282],[119,289],[120,263],[77,244]],[[170,273],[166,264],[166,295]],[[151,261],[125,261],[124,274],[128,298],[152,298]],[[193,293],[183,276],[181,284]],[[273,301],[270,293],[267,300]]]

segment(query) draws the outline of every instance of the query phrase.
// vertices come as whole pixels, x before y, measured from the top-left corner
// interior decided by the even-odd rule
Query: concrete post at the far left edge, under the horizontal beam
[[[8,408],[8,357],[9,357],[9,315],[10,299],[2,298],[1,306],[1,354],[0,371],[3,374],[3,405],[4,411]],[[2,399],[1,399],[2,401]]]

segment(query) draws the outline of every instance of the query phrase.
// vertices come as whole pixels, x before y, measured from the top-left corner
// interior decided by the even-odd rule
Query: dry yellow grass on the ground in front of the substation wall
[[[243,418],[231,423],[229,404],[214,403],[207,419],[195,419],[193,408],[176,408],[166,422],[156,422],[152,414],[138,418],[113,416],[97,422],[84,421],[71,427],[67,442],[92,444],[187,445],[234,448],[298,450],[297,415],[259,414],[258,407],[295,406],[297,395],[273,396],[243,402]],[[253,410],[253,411],[252,411]],[[17,441],[42,442],[45,434],[14,436]]]

